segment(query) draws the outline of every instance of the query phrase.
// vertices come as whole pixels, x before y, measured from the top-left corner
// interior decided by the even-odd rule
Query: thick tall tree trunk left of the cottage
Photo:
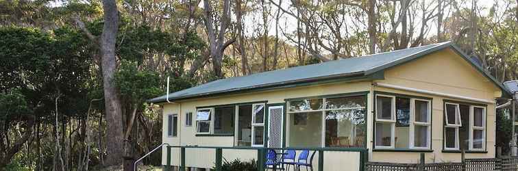
[[[106,166],[122,163],[123,123],[121,100],[115,86],[114,74],[117,68],[115,57],[116,36],[119,30],[119,12],[114,0],[103,0],[104,25],[101,34],[101,67],[103,71],[103,90],[106,108]]]

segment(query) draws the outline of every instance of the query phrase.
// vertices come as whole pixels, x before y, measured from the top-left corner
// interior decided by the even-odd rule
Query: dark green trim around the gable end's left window
[[[433,146],[433,140],[432,140],[432,137],[433,137],[433,116],[434,116],[434,98],[431,98],[431,97],[428,97],[428,96],[415,96],[415,95],[409,95],[409,94],[399,94],[399,93],[393,93],[393,92],[381,92],[381,91],[374,91],[374,94],[372,96],[372,101],[373,101],[373,107],[372,107],[372,114],[373,114],[373,124],[372,124],[372,130],[373,130],[373,133],[372,133],[372,149],[373,151],[401,151],[401,150],[411,150],[412,152],[414,152],[415,150],[417,149],[412,149],[412,148],[375,148],[376,147],[376,144],[375,144],[375,133],[376,133],[376,95],[378,94],[382,94],[382,95],[391,95],[391,96],[395,96],[396,98],[397,97],[402,97],[402,98],[415,98],[417,100],[419,99],[424,99],[424,100],[428,100],[430,101],[430,149],[426,149],[426,150],[423,150],[423,149],[419,149],[418,151],[421,151],[421,152],[428,152],[428,151],[433,151],[432,150],[432,146]],[[443,115],[444,116],[444,115]],[[410,140],[409,140],[410,141]]]

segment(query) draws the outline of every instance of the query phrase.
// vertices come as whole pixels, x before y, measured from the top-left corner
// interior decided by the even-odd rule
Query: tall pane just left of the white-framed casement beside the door
[[[251,105],[239,106],[238,146],[251,145]]]

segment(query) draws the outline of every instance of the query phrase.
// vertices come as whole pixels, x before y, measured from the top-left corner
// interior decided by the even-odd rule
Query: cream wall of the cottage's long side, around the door
[[[195,136],[195,122],[192,127],[185,127],[185,114],[186,112],[193,112],[195,114],[197,107],[212,106],[212,105],[227,105],[233,103],[247,103],[256,101],[267,101],[267,104],[272,103],[284,103],[286,98],[299,98],[307,96],[322,96],[326,94],[343,94],[349,92],[365,92],[369,91],[371,86],[370,81],[360,82],[349,82],[349,83],[328,83],[317,86],[306,86],[298,88],[288,88],[284,90],[272,90],[269,92],[254,92],[247,94],[234,94],[229,96],[218,96],[213,98],[200,98],[189,101],[177,102],[174,104],[163,104],[164,116],[167,114],[179,114],[178,122],[179,133],[178,137],[167,137],[167,132],[164,131],[162,134],[162,142],[169,143],[172,146],[186,146],[186,145],[198,145],[198,146],[234,146],[234,136]],[[371,103],[371,102],[369,102]],[[367,104],[368,107],[372,106]],[[193,115],[194,119],[194,115]],[[164,117],[164,123],[167,123],[167,117]],[[167,125],[163,125],[162,130],[167,130]],[[288,135],[286,135],[288,137]],[[318,140],[320,141],[320,140]],[[368,137],[367,142],[371,142]],[[180,163],[180,150],[172,150],[172,161],[173,166],[178,166]],[[197,168],[212,168],[214,166],[215,159],[214,150],[211,149],[186,149],[186,166],[197,167]],[[223,150],[223,157],[236,157],[245,159],[255,159],[257,153],[255,150]],[[351,170],[358,170],[359,167],[359,153],[329,153],[324,155],[325,159],[341,158],[344,162],[347,162],[349,166],[354,166]],[[167,149],[162,150],[162,164],[167,163]],[[352,159],[352,160],[349,160]],[[228,159],[227,160],[231,160]],[[314,164],[318,166],[318,155],[314,157]],[[328,162],[325,162],[328,163]],[[356,167],[358,166],[358,167]],[[338,168],[339,166],[325,166],[325,170],[343,170]]]

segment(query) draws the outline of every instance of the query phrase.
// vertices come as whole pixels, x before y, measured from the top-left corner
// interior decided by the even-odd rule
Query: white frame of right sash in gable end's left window
[[[418,121],[415,121],[415,101],[423,101],[423,102],[426,102],[428,103],[428,108],[427,108],[427,111],[428,111],[428,114],[426,115],[427,117],[427,122],[418,122]],[[428,131],[427,131],[427,135],[426,135],[426,146],[415,146],[415,126],[418,125],[418,126],[425,126],[427,127]],[[426,100],[426,99],[421,99],[421,98],[410,98],[410,131],[408,131],[410,133],[410,148],[413,148],[413,149],[423,149],[423,150],[428,150],[430,149],[430,144],[432,144],[432,101],[430,100]]]

